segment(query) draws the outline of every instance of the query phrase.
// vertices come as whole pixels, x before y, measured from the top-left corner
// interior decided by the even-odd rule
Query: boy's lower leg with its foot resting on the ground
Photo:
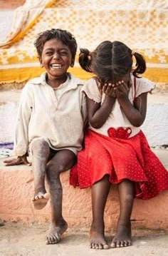
[[[46,244],[61,240],[61,235],[68,228],[62,215],[63,189],[60,173],[69,170],[75,164],[76,156],[70,150],[60,150],[47,164],[47,179],[51,198],[51,227],[46,235]]]

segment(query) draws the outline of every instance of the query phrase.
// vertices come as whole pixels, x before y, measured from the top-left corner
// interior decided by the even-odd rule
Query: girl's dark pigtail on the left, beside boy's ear
[[[80,48],[79,63],[81,68],[87,72],[93,73],[91,62],[92,57],[90,56],[90,51],[86,48]]]

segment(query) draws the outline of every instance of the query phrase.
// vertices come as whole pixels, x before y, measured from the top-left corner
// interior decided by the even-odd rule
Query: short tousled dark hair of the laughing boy
[[[38,34],[38,37],[37,37],[36,41],[34,42],[34,46],[36,47],[36,50],[38,53],[38,58],[41,59],[43,46],[46,43],[46,41],[49,41],[51,39],[58,39],[63,44],[68,46],[68,48],[70,49],[70,53],[72,55],[71,66],[73,66],[74,62],[75,62],[75,54],[76,54],[78,45],[75,41],[75,37],[69,31],[66,31],[63,29],[46,30],[46,31],[43,31],[40,34]]]

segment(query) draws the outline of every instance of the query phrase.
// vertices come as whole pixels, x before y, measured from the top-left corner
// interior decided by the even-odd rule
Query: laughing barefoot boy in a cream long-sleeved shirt
[[[43,208],[48,200],[46,175],[51,198],[51,227],[46,243],[53,244],[61,240],[68,227],[62,215],[60,173],[74,165],[81,149],[85,96],[80,93],[82,81],[68,73],[77,50],[73,35],[61,29],[43,31],[35,46],[46,72],[28,81],[23,88],[16,118],[14,153],[17,158],[5,163],[28,165],[27,155],[31,153],[33,204],[37,209]]]

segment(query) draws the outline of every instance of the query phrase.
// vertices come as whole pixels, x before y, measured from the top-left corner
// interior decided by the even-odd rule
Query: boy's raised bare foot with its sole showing
[[[48,193],[41,193],[38,192],[34,197],[32,198],[33,206],[36,210],[43,209],[46,204],[48,203],[49,195]]]

